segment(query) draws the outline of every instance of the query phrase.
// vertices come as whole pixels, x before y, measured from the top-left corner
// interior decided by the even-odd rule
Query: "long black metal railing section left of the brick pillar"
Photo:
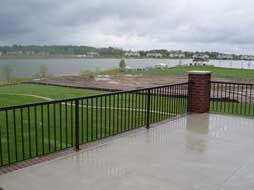
[[[0,108],[0,167],[187,112],[188,83]]]

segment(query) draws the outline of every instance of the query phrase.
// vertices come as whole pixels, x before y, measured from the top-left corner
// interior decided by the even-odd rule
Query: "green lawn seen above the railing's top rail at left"
[[[0,107],[46,101],[26,95],[42,96],[51,99],[73,98],[103,93],[103,91],[55,87],[34,84],[18,84],[0,87]]]

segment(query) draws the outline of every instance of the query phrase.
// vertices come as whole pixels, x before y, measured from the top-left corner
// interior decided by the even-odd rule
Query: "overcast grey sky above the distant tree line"
[[[0,0],[0,44],[254,54],[253,0]]]

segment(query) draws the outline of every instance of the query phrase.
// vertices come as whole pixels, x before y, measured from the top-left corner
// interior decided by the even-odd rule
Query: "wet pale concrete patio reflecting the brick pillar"
[[[192,114],[0,176],[5,190],[254,189],[254,119]]]

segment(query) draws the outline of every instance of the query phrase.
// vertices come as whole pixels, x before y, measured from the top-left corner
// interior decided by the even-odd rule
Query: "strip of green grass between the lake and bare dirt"
[[[168,69],[148,69],[148,70],[128,70],[130,74],[145,74],[145,75],[187,75],[188,71],[212,71],[214,77],[254,77],[254,69],[231,69],[214,66],[176,66]]]

